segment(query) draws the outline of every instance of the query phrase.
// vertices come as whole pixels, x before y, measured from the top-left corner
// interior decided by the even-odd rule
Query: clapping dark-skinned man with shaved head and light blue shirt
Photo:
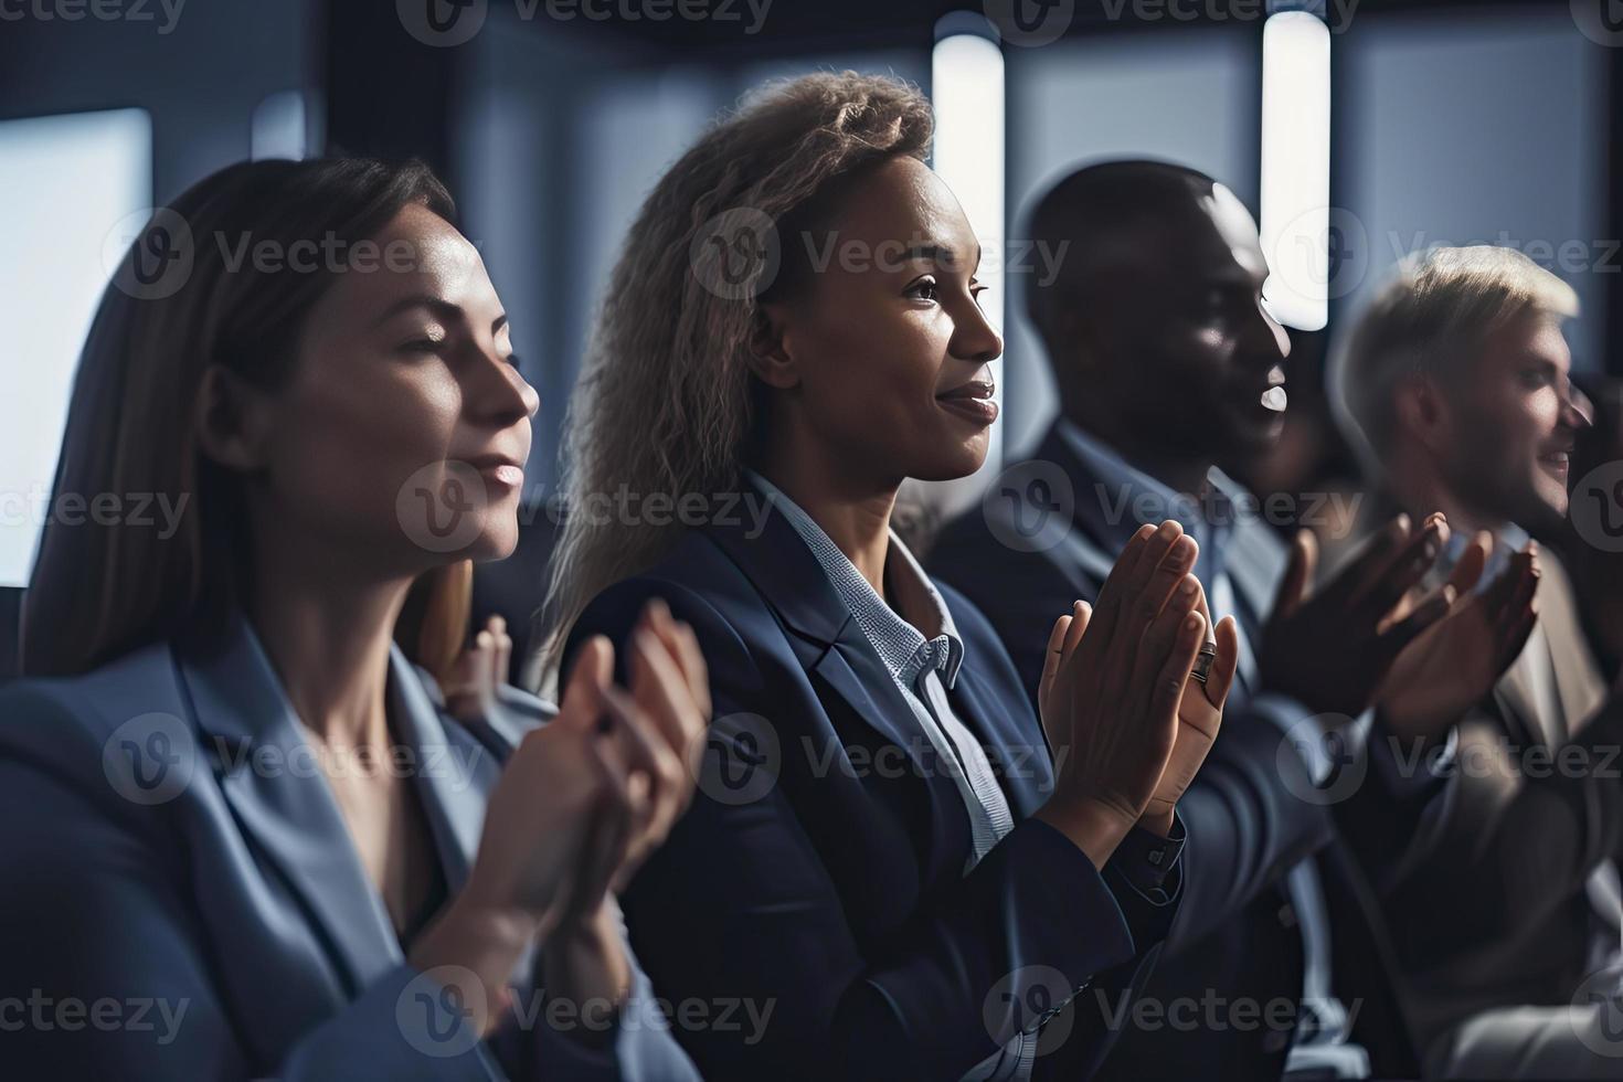
[[[1157,162],[1094,165],[1040,200],[1031,237],[1068,251],[1026,297],[1061,415],[941,532],[932,569],[982,607],[1034,688],[1042,613],[1091,600],[1139,522],[1170,517],[1201,547],[1212,616],[1242,631],[1224,730],[1185,795],[1180,920],[1144,990],[1160,1011],[1107,1019],[1121,1040],[1102,1077],[1414,1076],[1371,882],[1423,860],[1453,738],[1402,733],[1438,754],[1397,769],[1370,740],[1388,732],[1371,704],[1470,586],[1412,600],[1448,524],[1399,516],[1315,587],[1311,534],[1284,543],[1216,469],[1277,440],[1290,352],[1263,300],[1256,225],[1225,187]]]

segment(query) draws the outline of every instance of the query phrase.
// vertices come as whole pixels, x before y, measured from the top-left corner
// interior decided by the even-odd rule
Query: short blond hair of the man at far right
[[[1446,373],[1461,354],[1529,311],[1556,321],[1576,316],[1578,294],[1514,248],[1430,248],[1397,264],[1329,371],[1337,420],[1371,475],[1391,451],[1399,383]]]

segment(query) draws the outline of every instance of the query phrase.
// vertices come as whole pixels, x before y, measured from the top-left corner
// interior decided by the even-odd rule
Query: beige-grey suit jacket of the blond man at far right
[[[1384,902],[1428,1040],[1490,1007],[1565,1006],[1597,933],[1617,947],[1617,897],[1595,869],[1623,844],[1623,709],[1565,569],[1548,548],[1539,563],[1539,628],[1459,725],[1443,840]],[[1550,662],[1540,694],[1535,665]]]

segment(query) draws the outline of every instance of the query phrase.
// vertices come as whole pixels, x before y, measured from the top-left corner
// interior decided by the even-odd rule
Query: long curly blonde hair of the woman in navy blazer
[[[769,222],[781,235],[786,219],[854,170],[923,161],[932,130],[930,102],[909,83],[818,73],[766,84],[670,167],[626,234],[570,401],[570,506],[591,493],[678,500],[737,485],[755,422],[748,357],[760,298],[781,292],[787,274],[774,287],[776,263],[755,260],[737,289],[719,287],[724,255],[706,243],[717,221]],[[786,245],[781,255],[795,253]],[[656,563],[682,529],[605,517],[563,522],[542,608],[553,629],[549,668],[586,605]]]

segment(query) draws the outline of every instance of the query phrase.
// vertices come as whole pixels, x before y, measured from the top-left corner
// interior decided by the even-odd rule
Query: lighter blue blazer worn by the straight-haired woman
[[[506,753],[544,711],[514,693],[521,712],[464,727],[437,694],[396,649],[398,762],[456,891]],[[568,1017],[516,980],[505,1028],[479,1041],[466,1004],[406,962],[240,620],[208,654],[157,644],[0,693],[0,1004],[23,1003],[0,1015],[8,1076],[698,1077],[636,1014],[652,1006],[641,973],[612,1040],[553,1028]]]

